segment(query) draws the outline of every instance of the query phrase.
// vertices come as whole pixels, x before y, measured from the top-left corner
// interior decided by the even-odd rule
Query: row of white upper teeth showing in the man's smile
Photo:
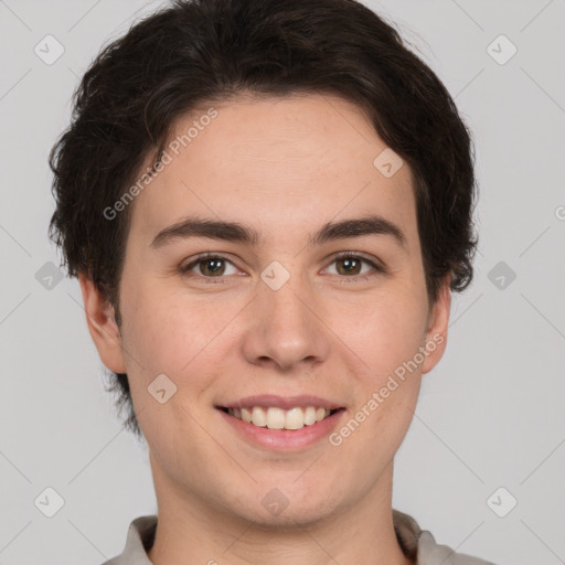
[[[269,429],[300,429],[321,422],[330,415],[328,408],[317,408],[315,406],[296,407],[289,411],[274,406],[268,408],[253,406],[248,408],[227,408],[227,413],[255,426]]]

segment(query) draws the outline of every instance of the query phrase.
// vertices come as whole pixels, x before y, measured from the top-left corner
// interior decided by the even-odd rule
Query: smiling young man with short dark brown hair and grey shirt
[[[173,2],[93,63],[51,166],[159,507],[108,563],[487,563],[392,509],[476,239],[469,134],[391,26]]]

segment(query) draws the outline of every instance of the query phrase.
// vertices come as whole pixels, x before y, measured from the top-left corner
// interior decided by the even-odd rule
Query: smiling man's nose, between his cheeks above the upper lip
[[[276,290],[260,280],[249,306],[243,342],[248,363],[291,372],[327,359],[331,333],[319,301],[299,276],[291,276]]]

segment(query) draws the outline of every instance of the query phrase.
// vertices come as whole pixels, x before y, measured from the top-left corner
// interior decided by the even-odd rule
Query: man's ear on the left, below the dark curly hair
[[[86,274],[78,274],[78,282],[83,292],[88,331],[102,362],[114,373],[127,373],[114,307],[100,295]]]

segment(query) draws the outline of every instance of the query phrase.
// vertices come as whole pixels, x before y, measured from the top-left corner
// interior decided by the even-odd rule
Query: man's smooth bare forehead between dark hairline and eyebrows
[[[164,226],[199,215],[253,225],[266,242],[379,213],[409,237],[412,173],[404,163],[383,174],[385,150],[361,108],[335,96],[203,105],[171,128],[167,164],[136,198],[130,232],[150,243]]]

